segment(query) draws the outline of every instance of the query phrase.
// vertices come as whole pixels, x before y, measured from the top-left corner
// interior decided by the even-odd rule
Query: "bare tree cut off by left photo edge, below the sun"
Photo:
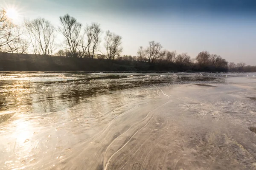
[[[0,11],[0,52],[24,53],[28,48],[23,32],[6,17],[6,11]]]

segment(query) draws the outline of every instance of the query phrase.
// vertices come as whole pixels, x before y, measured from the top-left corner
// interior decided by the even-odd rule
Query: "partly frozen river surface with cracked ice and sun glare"
[[[0,168],[255,169],[253,75],[0,72]]]

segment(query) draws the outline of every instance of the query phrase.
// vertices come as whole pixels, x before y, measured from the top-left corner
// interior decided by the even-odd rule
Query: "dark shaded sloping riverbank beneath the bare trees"
[[[227,71],[227,68],[199,67],[173,62],[140,62],[70,57],[46,57],[34,54],[0,53],[0,71]]]

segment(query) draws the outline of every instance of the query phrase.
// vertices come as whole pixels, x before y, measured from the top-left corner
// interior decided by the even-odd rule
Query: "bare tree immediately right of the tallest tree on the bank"
[[[95,51],[100,43],[100,35],[102,33],[100,25],[98,23],[92,23],[91,26],[86,26],[85,32],[87,35],[87,56],[94,57]]]

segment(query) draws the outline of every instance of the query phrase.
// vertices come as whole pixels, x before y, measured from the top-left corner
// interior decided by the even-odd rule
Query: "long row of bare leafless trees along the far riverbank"
[[[91,23],[85,27],[69,14],[59,18],[60,26],[55,26],[44,18],[24,20],[17,26],[0,11],[0,52],[29,53],[45,57],[59,56],[79,59],[108,59],[145,71],[142,63],[148,63],[148,70],[175,71],[256,71],[256,66],[244,63],[228,63],[217,54],[200,52],[195,58],[188,54],[164,50],[159,42],[151,41],[147,47],[140,47],[137,56],[122,56],[122,37],[111,31],[102,31],[100,24]],[[102,34],[105,34],[102,40]],[[56,44],[57,35],[64,38],[62,45]],[[99,49],[103,41],[105,51]],[[109,62],[108,62],[109,63]],[[145,65],[145,64],[144,64]],[[148,68],[149,67],[149,68]]]

